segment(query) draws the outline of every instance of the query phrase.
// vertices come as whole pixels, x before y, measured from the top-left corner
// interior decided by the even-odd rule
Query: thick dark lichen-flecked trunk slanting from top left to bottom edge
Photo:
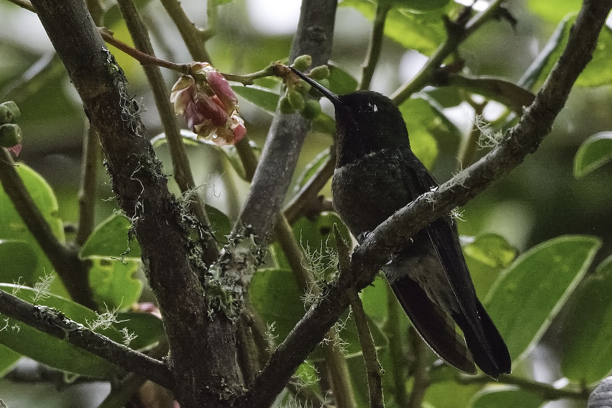
[[[188,238],[192,218],[168,191],[138,104],[83,1],[32,3],[100,135],[119,206],[133,219],[165,322],[175,394],[184,408],[224,406],[242,387],[234,327],[222,313],[209,316],[200,243]]]

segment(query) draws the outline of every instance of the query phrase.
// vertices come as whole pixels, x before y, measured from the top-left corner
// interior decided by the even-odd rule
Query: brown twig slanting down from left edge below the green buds
[[[0,150],[0,182],[15,210],[53,265],[70,297],[95,310],[97,305],[89,287],[87,263],[78,257],[76,248],[67,247],[55,236],[15,169],[17,165],[9,151],[4,147]]]

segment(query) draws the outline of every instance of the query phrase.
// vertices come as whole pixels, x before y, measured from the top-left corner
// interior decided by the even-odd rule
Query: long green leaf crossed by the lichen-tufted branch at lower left
[[[13,284],[0,284],[0,289],[7,292],[13,292],[16,288],[17,286]],[[32,303],[34,293],[34,289],[21,287],[15,295]],[[94,311],[56,295],[49,294],[48,297],[38,299],[35,303],[61,311],[65,316],[86,327],[89,325],[88,322],[94,322],[97,317]],[[2,321],[6,318],[6,316],[0,314]],[[0,343],[38,362],[69,373],[94,378],[110,378],[118,369],[97,355],[72,346],[47,333],[39,332],[19,321],[9,318],[8,324],[8,330],[0,331]],[[15,329],[12,328],[13,325],[15,325]],[[122,340],[121,333],[116,328],[109,327],[105,330],[99,329],[96,331],[114,341],[121,342]]]

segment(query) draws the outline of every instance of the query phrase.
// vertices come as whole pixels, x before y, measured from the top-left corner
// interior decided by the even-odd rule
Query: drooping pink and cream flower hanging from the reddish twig
[[[172,87],[174,113],[185,117],[198,138],[219,146],[236,144],[247,128],[238,116],[238,98],[230,83],[207,62],[193,62],[190,67],[193,76],[182,76]]]

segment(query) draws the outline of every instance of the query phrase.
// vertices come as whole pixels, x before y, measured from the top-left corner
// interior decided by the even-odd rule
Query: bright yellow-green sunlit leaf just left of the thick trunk
[[[136,302],[143,290],[143,283],[135,276],[140,261],[89,257],[89,286],[98,305],[106,308],[125,309]]]

